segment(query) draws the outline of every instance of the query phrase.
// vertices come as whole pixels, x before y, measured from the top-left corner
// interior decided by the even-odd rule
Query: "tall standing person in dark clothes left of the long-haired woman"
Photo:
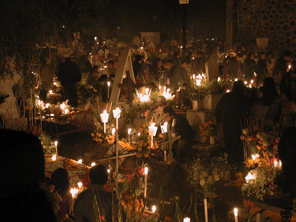
[[[241,164],[243,160],[243,144],[240,136],[247,110],[245,89],[242,81],[234,82],[232,91],[222,96],[215,110],[217,123],[221,122],[221,119],[223,122],[225,152],[228,154],[230,164]]]

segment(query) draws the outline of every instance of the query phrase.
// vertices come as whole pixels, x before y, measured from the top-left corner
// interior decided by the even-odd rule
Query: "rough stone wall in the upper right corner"
[[[269,38],[268,49],[275,51],[296,46],[295,0],[237,1],[238,41],[256,43]]]

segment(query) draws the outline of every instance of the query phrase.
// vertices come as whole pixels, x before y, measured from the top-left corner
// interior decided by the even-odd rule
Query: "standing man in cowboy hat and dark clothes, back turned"
[[[64,54],[65,62],[59,66],[58,78],[64,89],[64,99],[69,100],[68,105],[77,107],[77,83],[81,81],[81,72],[74,62],[74,55],[70,52]]]

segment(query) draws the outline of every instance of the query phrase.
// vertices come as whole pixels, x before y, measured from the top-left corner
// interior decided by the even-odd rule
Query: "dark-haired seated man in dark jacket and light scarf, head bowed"
[[[188,120],[185,117],[176,114],[172,107],[165,107],[163,109],[163,115],[170,127],[171,137],[181,136],[181,139],[177,140],[178,147],[176,153],[177,159],[180,159],[180,157],[184,157],[184,150],[186,149],[188,142],[194,139],[194,132],[191,129]],[[168,133],[164,133],[163,141],[167,140]],[[163,151],[165,150],[168,150],[168,146],[163,147]]]

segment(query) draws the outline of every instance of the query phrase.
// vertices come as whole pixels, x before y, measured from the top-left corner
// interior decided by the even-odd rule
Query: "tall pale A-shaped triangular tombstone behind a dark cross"
[[[128,83],[123,84],[123,79],[129,75],[129,78],[127,78]],[[131,80],[131,82],[129,82]],[[110,102],[112,102],[112,109],[118,105],[126,104],[126,102],[119,102],[119,95],[120,95],[120,89],[127,86],[127,85],[135,85],[135,77],[133,75],[133,65],[131,62],[131,51],[129,49],[123,49],[121,51],[118,66],[116,70],[116,75],[113,82],[113,87],[110,95]],[[116,87],[117,86],[117,87]],[[131,94],[129,94],[131,97]]]

